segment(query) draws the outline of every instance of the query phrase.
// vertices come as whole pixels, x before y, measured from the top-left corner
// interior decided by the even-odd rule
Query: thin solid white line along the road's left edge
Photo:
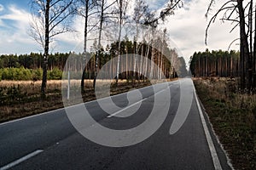
[[[173,82],[171,82],[171,83],[174,83],[174,82],[177,82],[177,81],[179,81],[179,80],[173,81]],[[164,82],[164,83],[166,83],[166,82]],[[157,85],[157,84],[154,84],[154,85]],[[154,85],[151,85],[151,86],[154,86]],[[144,87],[144,88],[149,88],[149,87],[150,87],[150,86],[147,86],[147,87]],[[143,88],[138,88],[138,89],[143,89]],[[127,92],[125,92],[125,93],[123,93],[123,94],[126,94],[126,93],[127,93]],[[106,98],[110,98],[110,97],[114,97],[114,96],[119,96],[119,95],[121,95],[121,94],[114,94],[114,95],[109,96],[109,97],[106,97]],[[102,98],[102,99],[106,99],[106,98]],[[95,102],[95,101],[97,101],[97,100],[100,100],[100,99],[91,100],[91,101],[88,101],[88,102],[85,102],[85,103],[82,103],[82,104],[78,104],[78,105],[89,104],[89,103]],[[76,107],[76,106],[78,106],[78,105],[70,105],[70,106],[68,106],[67,108]],[[22,121],[22,120],[30,119],[30,118],[35,117],[35,116],[43,116],[43,115],[46,115],[46,114],[49,114],[49,113],[53,113],[53,112],[55,112],[55,111],[61,111],[61,110],[64,111],[64,110],[65,110],[65,107],[59,108],[59,109],[56,109],[56,110],[53,110],[53,111],[46,111],[46,112],[44,112],[44,113],[39,113],[39,114],[32,115],[32,116],[21,117],[21,118],[18,118],[18,119],[9,121],[9,122],[2,122],[2,123],[0,123],[0,126],[6,125],[6,124],[9,124],[9,123],[12,123],[12,122],[19,122],[19,121]],[[0,170],[1,170],[1,169],[0,169]]]

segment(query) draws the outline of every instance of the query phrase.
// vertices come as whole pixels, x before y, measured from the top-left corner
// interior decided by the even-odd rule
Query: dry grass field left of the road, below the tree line
[[[80,81],[72,80],[79,88]],[[145,81],[119,81],[116,85],[113,80],[110,94],[128,92],[133,88],[143,88],[150,85]],[[45,111],[52,111],[63,107],[61,95],[61,80],[47,82],[45,98],[41,97],[41,81],[1,81],[0,83],[0,122],[16,118],[31,116]],[[93,80],[84,81],[84,102],[96,99]]]

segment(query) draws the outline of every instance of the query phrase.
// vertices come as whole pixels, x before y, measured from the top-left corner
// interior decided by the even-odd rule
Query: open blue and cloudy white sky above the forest
[[[146,0],[150,8],[162,8],[168,0]],[[211,26],[208,35],[208,44],[205,45],[205,30],[209,18],[205,17],[210,0],[185,0],[183,8],[175,11],[169,16],[160,28],[167,28],[168,38],[172,40],[172,47],[178,48],[180,55],[189,62],[189,57],[195,51],[229,48],[230,42],[239,37],[236,29],[230,33],[233,25],[222,23],[220,20]],[[211,14],[218,9],[219,0],[212,9]],[[1,0],[0,1],[0,54],[29,54],[31,52],[42,52],[43,49],[28,36],[30,27],[30,0]],[[211,17],[210,15],[209,17]],[[83,32],[83,23],[76,19],[74,28],[76,33],[67,33],[55,38],[50,52],[69,52],[76,48],[79,35]],[[79,33],[80,32],[80,33]],[[238,49],[237,43],[231,49]]]

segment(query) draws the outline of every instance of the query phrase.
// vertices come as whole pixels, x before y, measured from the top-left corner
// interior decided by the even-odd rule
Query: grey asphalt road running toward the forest
[[[131,146],[109,147],[84,138],[73,127],[64,109],[2,123],[0,169],[230,169],[206,115],[200,113],[193,84],[185,83],[190,81],[168,82],[171,102],[167,104],[165,121],[148,139]],[[183,89],[193,91],[192,104],[182,127],[172,134],[170,127],[177,122],[177,114],[183,114],[184,105],[189,105],[188,98],[181,93],[182,85]],[[103,111],[97,101],[85,103],[85,106],[94,120],[104,127],[116,130],[134,128],[150,117],[156,95],[160,98],[166,93],[162,85],[157,86],[158,92],[148,87],[140,89],[141,95],[134,91],[113,96],[114,104],[121,108],[119,111],[116,111],[118,107],[109,108],[113,116]],[[181,98],[185,99],[179,106]],[[76,107],[69,110],[75,111]],[[162,105],[156,109],[159,114],[164,110]],[[132,111],[136,113],[127,117],[122,115]],[[138,134],[133,136],[134,141],[137,138]],[[101,140],[104,143],[112,138],[102,137]]]

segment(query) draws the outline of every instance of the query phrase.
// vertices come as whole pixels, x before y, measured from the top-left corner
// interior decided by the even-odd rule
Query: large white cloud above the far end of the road
[[[218,9],[220,4],[216,4],[214,9]],[[161,26],[167,28],[169,38],[177,44],[177,48],[180,49],[187,63],[195,51],[204,51],[206,48],[227,50],[230,42],[239,36],[237,29],[233,33],[229,33],[232,28],[229,22],[221,23],[216,20],[216,23],[212,24],[208,31],[208,46],[206,46],[205,31],[208,20],[205,18],[205,14],[207,5],[208,1],[205,0],[187,1],[184,3],[184,8],[177,9],[175,14]],[[238,49],[236,46],[232,48]]]

